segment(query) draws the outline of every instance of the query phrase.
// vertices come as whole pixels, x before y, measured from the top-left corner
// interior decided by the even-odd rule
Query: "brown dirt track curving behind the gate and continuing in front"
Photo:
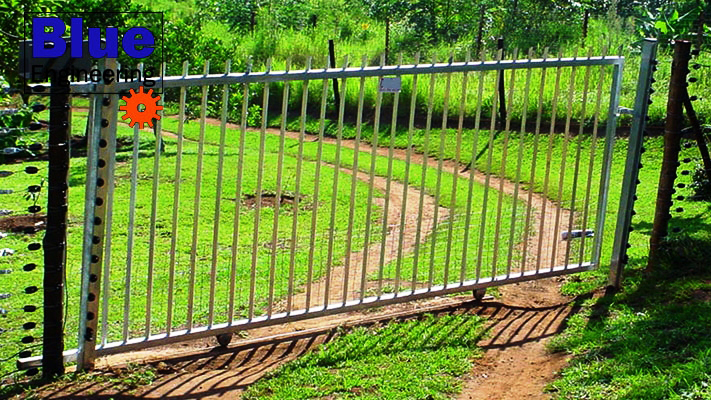
[[[208,123],[219,124],[217,120],[208,120]],[[238,126],[230,126],[238,129]],[[270,134],[279,134],[278,130],[269,129]],[[164,135],[174,134],[164,132]],[[298,137],[298,134],[288,132],[289,137]],[[309,140],[313,136],[309,135]],[[327,143],[335,143],[335,139],[324,139]],[[344,147],[352,148],[355,143],[350,140],[342,141]],[[369,152],[371,147],[365,143],[360,144],[361,151]],[[378,148],[377,154],[388,155],[388,149]],[[395,150],[394,157],[405,159],[404,150]],[[420,154],[413,154],[411,158],[413,164],[427,162],[429,165],[436,165],[432,158],[426,158]],[[481,172],[460,172],[462,165],[448,160],[444,162],[444,168],[449,172],[455,172],[462,177],[468,178],[469,174],[474,174],[474,180],[481,184],[486,183],[486,175]],[[343,172],[349,172],[342,170]],[[358,179],[364,180],[366,174],[359,173]],[[384,178],[377,178],[376,189],[382,190],[385,184]],[[402,185],[393,182],[391,190],[390,205],[391,212],[388,213],[388,222],[399,225],[400,207],[402,200],[398,197],[402,194]],[[399,185],[399,186],[397,186]],[[489,186],[494,189],[501,189],[505,194],[513,196],[516,185],[508,180],[490,177]],[[416,189],[408,192],[408,198],[419,198]],[[518,198],[525,204],[532,207],[531,221],[532,227],[539,234],[531,235],[525,243],[528,256],[526,258],[527,269],[535,267],[532,262],[536,258],[541,260],[541,266],[549,266],[552,262],[560,265],[564,262],[565,247],[560,246],[557,254],[553,255],[552,248],[545,244],[557,243],[558,232],[553,231],[554,221],[559,218],[561,226],[567,226],[570,214],[567,210],[561,209],[557,212],[557,206],[545,197],[529,192],[521,186],[518,188]],[[417,208],[417,202],[408,201],[407,215],[417,215],[422,212],[425,218],[431,218],[436,205],[431,197],[425,196],[427,200],[423,210]],[[542,211],[545,208],[545,213]],[[440,207],[439,212],[443,217],[447,215],[447,210]],[[415,214],[411,214],[415,213]],[[543,221],[543,231],[540,231],[540,224]],[[429,226],[426,224],[425,226]],[[404,236],[406,246],[414,245],[414,224],[405,224]],[[562,228],[566,229],[566,228]],[[399,232],[391,231],[388,235],[388,243],[398,238]],[[426,237],[426,235],[422,235]],[[539,252],[539,240],[544,245]],[[524,244],[522,243],[521,246]],[[368,252],[368,264],[377,266],[380,254],[371,248]],[[410,247],[407,247],[409,249]],[[363,260],[363,252],[354,252],[350,258],[350,264],[359,266],[359,261]],[[386,260],[390,260],[386,254]],[[370,260],[372,258],[372,260]],[[386,261],[387,262],[387,261]],[[353,273],[360,273],[359,268],[353,268]],[[331,293],[342,293],[344,267],[335,267],[331,271],[332,288]],[[555,333],[560,332],[567,317],[575,312],[570,300],[560,295],[559,286],[562,278],[550,278],[534,282],[512,284],[500,288],[502,293],[501,303],[484,302],[480,306],[470,309],[470,312],[487,316],[490,320],[491,335],[483,340],[480,345],[487,350],[484,358],[477,362],[476,367],[464,382],[464,388],[460,395],[461,399],[546,399],[549,396],[543,393],[545,385],[550,382],[566,362],[565,357],[550,355],[545,350],[546,341]],[[340,283],[339,283],[340,282]],[[355,279],[349,279],[348,291],[356,288],[351,285],[356,284]],[[316,282],[320,285],[322,282]],[[338,287],[337,285],[341,285]],[[359,282],[358,282],[359,284]],[[329,298],[338,300],[339,296]],[[467,296],[457,296],[451,298],[434,298],[424,301],[416,301],[405,304],[384,307],[379,310],[369,312],[367,315],[377,316],[394,311],[417,312],[420,309],[433,305],[452,304],[454,307],[461,306],[461,302]],[[295,307],[302,304],[302,295],[295,295]],[[279,326],[260,328],[250,331],[251,337],[264,337],[269,335],[303,331],[314,329],[330,324],[353,323],[364,318],[360,312],[347,313],[336,316],[329,316],[306,320],[295,323],[282,324]],[[85,385],[86,387],[70,386],[59,388],[52,392],[44,392],[46,398],[169,398],[169,399],[233,399],[239,397],[249,384],[260,379],[266,372],[273,370],[278,365],[297,358],[307,351],[315,348],[319,343],[330,340],[333,333],[305,335],[289,341],[277,341],[271,344],[259,346],[241,346],[243,341],[234,341],[230,349],[220,350],[214,348],[214,344],[209,340],[197,340],[182,343],[176,346],[167,346],[148,351],[135,352],[120,356],[107,357],[99,360],[99,365],[104,368],[125,364],[131,360],[141,360],[152,362],[157,365],[160,373],[164,374],[152,385],[139,389],[135,393],[126,393],[112,389],[111,385]],[[210,350],[212,349],[212,350]],[[191,352],[191,355],[181,356]]]

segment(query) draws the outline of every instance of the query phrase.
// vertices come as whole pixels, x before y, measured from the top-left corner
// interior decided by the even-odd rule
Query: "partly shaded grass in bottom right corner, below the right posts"
[[[586,301],[551,342],[573,358],[549,391],[561,399],[711,399],[710,240],[674,239],[663,268],[628,270],[621,293]]]

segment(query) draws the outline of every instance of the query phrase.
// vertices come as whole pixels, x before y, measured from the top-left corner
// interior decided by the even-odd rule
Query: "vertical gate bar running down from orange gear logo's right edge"
[[[161,104],[163,102],[161,101]],[[159,117],[163,116],[163,110],[158,111]],[[153,154],[153,188],[151,192],[151,219],[150,219],[150,237],[148,238],[148,277],[146,281],[146,325],[144,336],[151,335],[151,318],[153,306],[153,268],[155,266],[155,247],[156,247],[156,219],[158,217],[158,185],[160,183],[160,149],[161,135],[163,133],[163,124],[161,118],[158,118],[156,124],[156,144]],[[153,124],[149,124],[151,128]]]

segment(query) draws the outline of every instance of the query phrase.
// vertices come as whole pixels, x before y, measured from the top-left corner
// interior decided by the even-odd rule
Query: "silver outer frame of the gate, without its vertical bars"
[[[656,44],[649,46],[647,42],[643,46],[643,60],[651,60],[654,58]],[[109,61],[110,62],[110,61]],[[606,144],[603,157],[603,170],[601,176],[601,189],[599,191],[598,202],[598,220],[596,225],[596,235],[594,239],[594,247],[592,253],[592,261],[583,264],[569,264],[567,266],[559,266],[553,268],[541,268],[539,271],[524,271],[519,273],[509,273],[499,276],[480,278],[479,280],[470,280],[465,282],[456,282],[433,286],[431,288],[423,288],[418,290],[405,290],[397,293],[382,294],[380,296],[372,296],[363,300],[353,300],[347,302],[331,303],[327,306],[311,307],[305,310],[291,311],[288,313],[273,314],[271,316],[261,316],[252,319],[244,319],[231,321],[222,324],[214,324],[211,326],[195,327],[192,329],[166,332],[148,337],[140,337],[129,339],[124,342],[115,342],[103,344],[101,346],[91,345],[95,342],[98,315],[98,282],[100,281],[101,270],[99,264],[101,262],[101,254],[103,254],[103,234],[104,227],[101,221],[96,220],[97,217],[105,215],[105,203],[97,205],[95,199],[97,197],[105,198],[107,186],[97,186],[97,181],[104,179],[107,182],[107,170],[109,168],[100,166],[99,160],[109,160],[114,157],[115,152],[115,112],[118,105],[118,96],[112,95],[105,97],[104,92],[108,87],[103,85],[87,85],[74,84],[72,92],[77,93],[94,93],[93,95],[93,110],[98,111],[92,116],[92,136],[89,141],[89,155],[87,165],[96,165],[97,168],[88,168],[87,179],[87,194],[86,194],[86,215],[91,216],[85,221],[84,232],[84,258],[82,261],[82,307],[80,314],[80,334],[79,348],[64,352],[65,361],[79,362],[79,369],[91,369],[94,364],[94,359],[97,356],[131,351],[140,348],[152,347],[175,343],[179,341],[196,339],[200,337],[216,336],[220,334],[232,333],[238,330],[252,329],[262,326],[275,325],[308,318],[315,318],[325,315],[343,313],[361,310],[373,306],[383,306],[395,303],[402,303],[411,300],[423,299],[437,295],[458,293],[464,291],[481,291],[487,287],[500,286],[508,283],[523,282],[535,279],[542,279],[563,274],[571,274],[575,272],[587,271],[595,269],[600,265],[600,255],[602,247],[602,237],[604,229],[604,216],[609,196],[609,180],[612,162],[612,151],[614,148],[615,132],[617,116],[623,112],[619,107],[619,97],[622,83],[622,70],[624,66],[624,57],[622,56],[605,56],[605,57],[590,57],[590,58],[558,58],[558,59],[535,59],[535,60],[499,60],[499,61],[480,61],[480,62],[459,62],[459,63],[432,63],[426,65],[397,65],[397,66],[380,66],[380,67],[360,67],[360,68],[326,68],[322,70],[301,70],[301,71],[277,71],[277,72],[256,72],[256,73],[225,73],[212,75],[183,75],[161,78],[161,83],[165,87],[189,87],[189,86],[206,86],[206,85],[227,85],[239,83],[265,83],[276,81],[311,81],[346,77],[376,77],[386,75],[415,75],[415,74],[438,74],[452,72],[478,72],[478,71],[503,71],[513,69],[533,69],[533,68],[555,68],[555,67],[585,67],[589,65],[612,65],[613,76],[610,87],[610,105],[608,108],[607,126],[606,126]],[[643,62],[642,70],[638,82],[638,94],[636,101],[635,121],[637,125],[635,132],[641,132],[643,129],[639,127],[639,121],[644,122],[647,107],[640,103],[639,89],[646,87],[645,95],[648,98],[649,87],[643,86],[642,82],[649,83],[651,75],[642,73],[645,63]],[[136,86],[136,83],[114,83],[111,91],[118,92],[127,90]],[[99,89],[96,93],[95,90]],[[108,108],[109,104],[103,103],[104,99],[110,99],[109,104],[112,106],[108,109],[108,114],[104,108]],[[113,116],[113,118],[110,118]],[[109,124],[106,124],[108,119]],[[110,121],[114,121],[114,129]],[[107,125],[107,126],[104,126]],[[643,127],[643,126],[642,126]],[[641,143],[641,135],[634,133],[635,143]],[[632,139],[632,136],[631,138]],[[106,146],[106,142],[109,143]],[[103,146],[100,145],[103,143]],[[627,167],[638,164],[638,161],[633,162],[630,156],[639,157],[639,147],[635,145],[634,150],[630,147],[628,151]],[[634,153],[634,154],[633,154]],[[94,163],[94,164],[92,164]],[[111,164],[111,163],[109,163]],[[102,178],[103,177],[103,178]],[[625,203],[625,199],[633,193],[633,184],[635,180],[625,175],[623,181],[623,199],[620,204],[620,210],[624,205],[624,216],[631,216],[631,207]],[[622,215],[619,220],[622,220]],[[95,222],[99,222],[96,224]],[[619,221],[618,221],[619,225]],[[619,226],[615,235],[615,249],[626,244],[626,238],[619,235]],[[628,232],[627,232],[628,235]],[[618,253],[615,253],[618,254]],[[98,260],[97,260],[98,257]],[[617,266],[618,264],[613,264]],[[611,269],[612,271],[613,269]],[[20,360],[19,363],[24,368],[41,365],[41,359],[28,358]]]

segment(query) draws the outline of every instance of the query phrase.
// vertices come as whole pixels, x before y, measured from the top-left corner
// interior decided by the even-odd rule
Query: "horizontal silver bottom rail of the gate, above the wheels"
[[[241,319],[232,323],[215,324],[193,329],[184,329],[170,333],[162,333],[149,337],[130,339],[121,342],[107,343],[96,347],[97,357],[111,354],[124,353],[141,350],[149,347],[164,346],[168,344],[183,342],[186,340],[199,339],[208,336],[217,336],[224,333],[243,331],[254,328],[261,328],[270,325],[283,324],[288,322],[301,321],[305,319],[323,317],[333,314],[340,314],[350,311],[358,311],[371,307],[380,307],[390,304],[404,303],[412,300],[421,300],[430,297],[466,292],[469,290],[485,289],[488,287],[502,286],[509,283],[532,281],[553,276],[572,274],[576,272],[589,271],[595,268],[593,263],[570,264],[568,267],[542,268],[538,272],[535,270],[498,275],[493,278],[482,278],[478,281],[471,280],[465,282],[450,283],[447,285],[433,286],[432,288],[422,288],[417,290],[405,290],[398,293],[387,293],[380,296],[366,297],[361,300],[348,301],[346,303],[333,303],[328,306],[312,307],[307,310],[297,310],[290,313],[279,313],[271,316],[260,316],[252,319]],[[64,362],[74,362],[77,359],[77,349],[64,352]],[[42,356],[21,358],[17,361],[18,369],[36,368],[42,366]]]

